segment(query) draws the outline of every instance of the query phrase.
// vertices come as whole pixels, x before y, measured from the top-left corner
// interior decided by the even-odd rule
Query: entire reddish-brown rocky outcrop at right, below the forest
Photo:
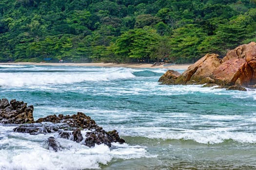
[[[167,71],[165,74],[172,71]],[[256,43],[251,42],[228,51],[221,59],[206,54],[178,77],[163,75],[159,82],[167,85],[217,84],[249,86],[256,84]]]

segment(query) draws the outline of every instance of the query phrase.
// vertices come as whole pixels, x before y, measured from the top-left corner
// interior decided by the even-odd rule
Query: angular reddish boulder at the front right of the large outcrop
[[[218,85],[250,85],[252,75],[252,68],[245,59],[237,58],[221,64],[213,71],[211,78]]]

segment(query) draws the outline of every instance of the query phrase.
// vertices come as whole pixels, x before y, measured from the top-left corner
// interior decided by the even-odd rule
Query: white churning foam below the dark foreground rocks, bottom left
[[[112,143],[110,149],[105,145],[88,148],[71,140],[60,139],[62,150],[49,151],[43,148],[43,141],[49,136],[9,132],[13,127],[1,126],[0,132],[7,132],[0,140],[0,170],[81,170],[99,169],[100,164],[108,164],[116,159],[135,159],[154,157],[145,147]],[[86,131],[82,131],[83,136]],[[54,135],[55,137],[58,134]]]

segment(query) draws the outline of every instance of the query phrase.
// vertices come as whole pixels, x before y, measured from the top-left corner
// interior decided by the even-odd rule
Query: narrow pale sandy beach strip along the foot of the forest
[[[94,66],[94,67],[124,67],[124,68],[171,68],[171,69],[187,69],[192,64],[176,64],[168,67],[162,65],[152,67],[152,64],[147,63],[128,63],[128,64],[117,64],[117,63],[30,63],[30,62],[19,62],[19,63],[0,63],[0,65],[35,65],[35,66]]]

